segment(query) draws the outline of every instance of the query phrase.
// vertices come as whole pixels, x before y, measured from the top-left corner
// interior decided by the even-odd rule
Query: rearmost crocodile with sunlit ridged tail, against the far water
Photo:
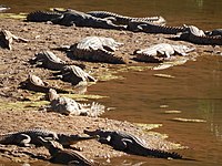
[[[114,12],[109,11],[89,11],[88,14],[101,18],[101,19],[111,19],[117,24],[129,24],[130,21],[141,21],[141,22],[151,22],[154,24],[165,24],[165,19],[162,17],[145,17],[145,18],[133,18],[133,17],[125,17]]]

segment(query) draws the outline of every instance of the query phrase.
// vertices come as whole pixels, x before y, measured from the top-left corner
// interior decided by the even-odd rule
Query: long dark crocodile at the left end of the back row
[[[115,29],[115,30],[125,29],[124,25],[117,25],[112,23],[111,20],[95,18],[84,12],[71,10],[71,9],[68,9],[67,11],[61,11],[61,12],[60,11],[31,12],[28,14],[27,21],[34,21],[34,22],[51,21],[54,24],[61,24],[61,25],[68,25],[68,27],[77,25],[77,27],[91,27],[91,28]]]

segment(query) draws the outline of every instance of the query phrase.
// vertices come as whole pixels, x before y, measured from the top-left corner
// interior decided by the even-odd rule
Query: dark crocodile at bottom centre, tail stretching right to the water
[[[153,156],[158,158],[182,158],[182,156],[176,153],[148,148],[139,137],[128,133],[103,129],[84,131],[84,133],[91,136],[99,135],[100,143],[108,144],[117,151],[122,151],[129,154],[140,156]]]

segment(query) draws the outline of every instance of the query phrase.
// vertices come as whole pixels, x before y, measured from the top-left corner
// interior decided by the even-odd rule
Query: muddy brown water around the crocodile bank
[[[109,10],[133,17],[162,15],[168,24],[194,24],[204,30],[222,27],[221,0],[1,0],[9,12],[29,12],[50,7],[81,11]],[[169,74],[173,79],[154,74]],[[103,116],[137,123],[154,123],[169,139],[189,146],[178,151],[196,160],[165,160],[128,156],[111,159],[111,165],[222,165],[222,56],[203,55],[198,61],[163,71],[120,73],[123,80],[99,82],[89,93],[107,95],[101,102],[115,110]],[[180,114],[164,114],[181,111]],[[176,122],[173,118],[204,120],[204,123]]]

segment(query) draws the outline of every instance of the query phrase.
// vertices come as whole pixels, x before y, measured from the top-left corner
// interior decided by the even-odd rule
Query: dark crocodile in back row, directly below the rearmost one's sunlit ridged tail
[[[169,27],[169,25],[154,24],[151,22],[141,22],[141,21],[132,20],[129,22],[129,25],[127,29],[133,32],[176,34],[179,32],[186,31],[186,25]]]

